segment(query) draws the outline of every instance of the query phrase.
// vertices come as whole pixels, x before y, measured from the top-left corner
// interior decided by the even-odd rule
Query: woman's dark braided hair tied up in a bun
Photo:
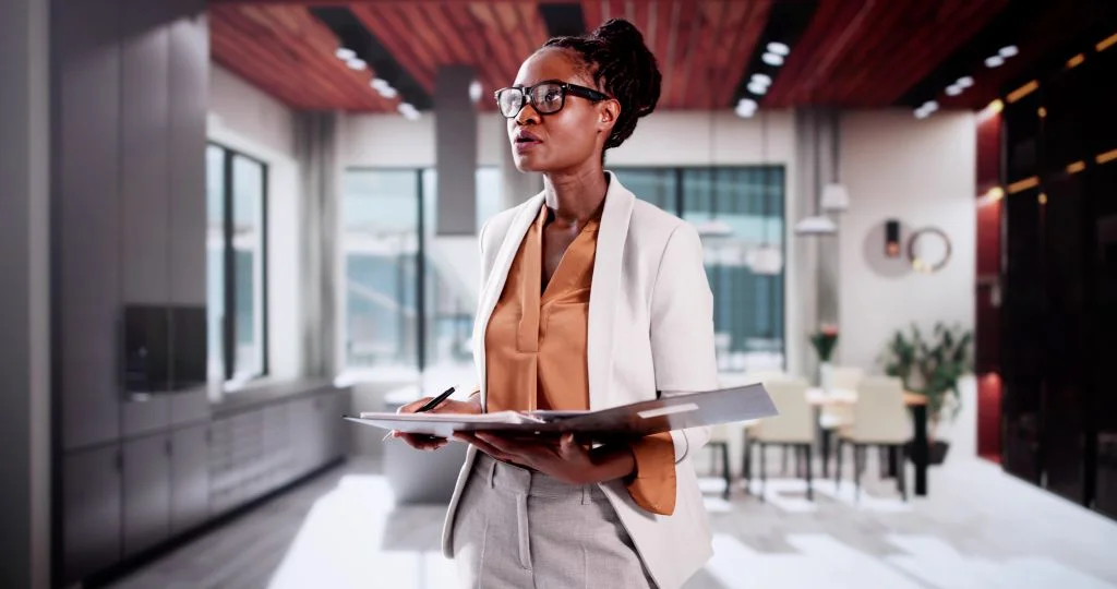
[[[656,110],[662,76],[643,35],[631,22],[612,19],[589,35],[555,37],[544,47],[573,53],[598,88],[621,104],[620,116],[605,140],[607,150],[624,143],[637,120]]]

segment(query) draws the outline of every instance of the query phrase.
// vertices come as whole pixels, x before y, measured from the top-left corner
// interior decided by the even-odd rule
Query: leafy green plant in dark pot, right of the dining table
[[[885,372],[899,377],[906,390],[927,398],[932,464],[942,464],[949,449],[949,443],[938,439],[936,431],[947,412],[953,420],[962,409],[958,379],[973,370],[972,344],[973,332],[939,322],[927,339],[914,324],[907,334],[897,331],[885,350]]]

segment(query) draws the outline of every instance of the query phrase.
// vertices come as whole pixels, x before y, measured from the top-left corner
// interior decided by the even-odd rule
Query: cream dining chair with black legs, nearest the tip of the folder
[[[809,384],[804,379],[775,379],[764,381],[764,388],[772,396],[780,415],[767,419],[762,419],[747,429],[745,439],[744,474],[752,479],[752,448],[758,445],[761,449],[761,497],[763,498],[763,487],[766,483],[765,454],[770,445],[794,448],[796,452],[795,464],[802,466],[800,458],[805,458],[805,472],[799,468],[806,478],[806,497],[814,498],[814,491],[811,482],[813,462],[811,458],[811,446],[814,443],[814,410],[806,401],[806,389]]]

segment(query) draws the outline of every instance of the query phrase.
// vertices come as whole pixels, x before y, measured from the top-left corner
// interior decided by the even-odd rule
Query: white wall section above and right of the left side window
[[[299,171],[295,113],[211,64],[208,136],[268,164],[268,361],[271,376],[303,374],[298,275]]]

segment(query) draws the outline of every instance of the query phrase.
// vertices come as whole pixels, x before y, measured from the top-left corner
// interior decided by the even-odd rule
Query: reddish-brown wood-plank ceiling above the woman
[[[614,17],[636,23],[663,73],[662,110],[729,108],[741,97],[742,80],[756,72],[774,79],[766,95],[758,97],[762,106],[879,108],[905,105],[928,80],[937,84],[945,65],[956,66],[963,49],[1008,6],[1030,0],[210,2],[213,60],[265,92],[296,108],[394,112],[400,99],[384,99],[369,86],[375,72],[354,72],[334,56],[338,39],[312,8],[347,8],[428,96],[439,66],[472,66],[485,110],[491,110],[491,92],[508,85],[521,61],[546,41],[541,3],[579,4],[585,30]],[[1043,39],[1052,36],[1042,31],[1051,22],[1072,18],[1054,4],[1046,9],[1047,20],[1041,15],[1031,23],[1035,39],[1021,42],[1013,67],[974,69],[968,74],[975,78],[974,88],[958,97],[944,99],[939,88],[943,106],[984,106],[1029,56],[1050,50],[1051,41]],[[773,22],[789,6],[810,6],[813,12],[791,40],[785,64],[765,66],[758,54],[768,41],[781,40],[783,29]]]

